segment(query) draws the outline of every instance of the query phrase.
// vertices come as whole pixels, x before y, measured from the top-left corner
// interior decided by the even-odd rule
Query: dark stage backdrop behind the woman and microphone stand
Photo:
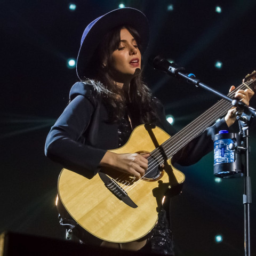
[[[68,69],[76,58],[86,25],[117,9],[119,1],[0,1],[1,35],[1,211],[0,231],[65,239],[54,206],[61,165],[44,156],[51,125],[68,103],[78,79]],[[123,1],[149,18],[151,37],[144,56],[145,80],[162,100],[177,130],[218,98],[170,78],[147,65],[150,54],[174,60],[208,84],[227,93],[256,69],[256,1]],[[172,11],[167,6],[173,5]],[[222,12],[215,12],[220,5]],[[214,67],[215,61],[222,69]],[[255,100],[252,102],[255,106]],[[251,249],[256,255],[256,136],[251,130]],[[173,198],[177,255],[243,255],[243,179],[215,182],[213,154],[181,168],[183,193]],[[215,243],[215,235],[223,236]],[[29,242],[29,241],[28,241]]]

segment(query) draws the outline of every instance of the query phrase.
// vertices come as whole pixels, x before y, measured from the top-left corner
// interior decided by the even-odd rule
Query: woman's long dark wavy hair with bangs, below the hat
[[[135,116],[136,125],[154,124],[157,119],[156,106],[150,89],[142,81],[141,72],[132,78],[129,95],[126,95],[126,92],[114,82],[111,55],[119,47],[122,28],[129,30],[140,49],[140,36],[134,28],[128,25],[114,28],[102,38],[94,52],[89,65],[91,75],[88,78],[99,82],[93,83],[93,87],[98,94],[102,95],[103,102],[109,109],[109,122],[118,121],[129,108],[130,113],[133,117]]]

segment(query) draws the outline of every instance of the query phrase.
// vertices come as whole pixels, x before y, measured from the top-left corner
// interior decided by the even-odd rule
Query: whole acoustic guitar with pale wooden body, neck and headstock
[[[254,76],[255,71],[228,96],[233,97],[238,89],[255,89]],[[62,205],[80,227],[102,240],[125,243],[142,238],[156,225],[166,191],[179,188],[185,180],[172,166],[171,157],[230,108],[231,103],[221,99],[172,137],[153,125],[136,127],[123,147],[109,151],[149,152],[148,170],[140,180],[103,168],[89,180],[63,169],[58,179]]]

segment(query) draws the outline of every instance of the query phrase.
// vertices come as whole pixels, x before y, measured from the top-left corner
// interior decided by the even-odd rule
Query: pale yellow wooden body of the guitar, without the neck
[[[129,141],[121,148],[109,150],[117,154],[151,152],[170,135],[156,126],[140,125],[134,129]],[[102,172],[116,179],[118,185],[132,177],[105,169]],[[99,174],[87,179],[73,171],[63,169],[58,180],[61,203],[79,226],[92,235],[109,242],[126,243],[147,235],[157,222],[158,210],[167,190],[179,187],[185,180],[183,173],[174,169],[170,159],[156,179],[133,181],[125,185],[127,195],[138,207],[131,207],[113,194]]]

